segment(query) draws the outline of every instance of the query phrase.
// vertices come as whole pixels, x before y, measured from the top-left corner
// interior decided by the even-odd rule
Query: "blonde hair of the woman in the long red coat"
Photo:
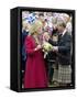
[[[35,33],[38,33],[38,28],[42,28],[42,26],[43,24],[41,21],[35,21],[30,28],[30,34],[33,35]]]

